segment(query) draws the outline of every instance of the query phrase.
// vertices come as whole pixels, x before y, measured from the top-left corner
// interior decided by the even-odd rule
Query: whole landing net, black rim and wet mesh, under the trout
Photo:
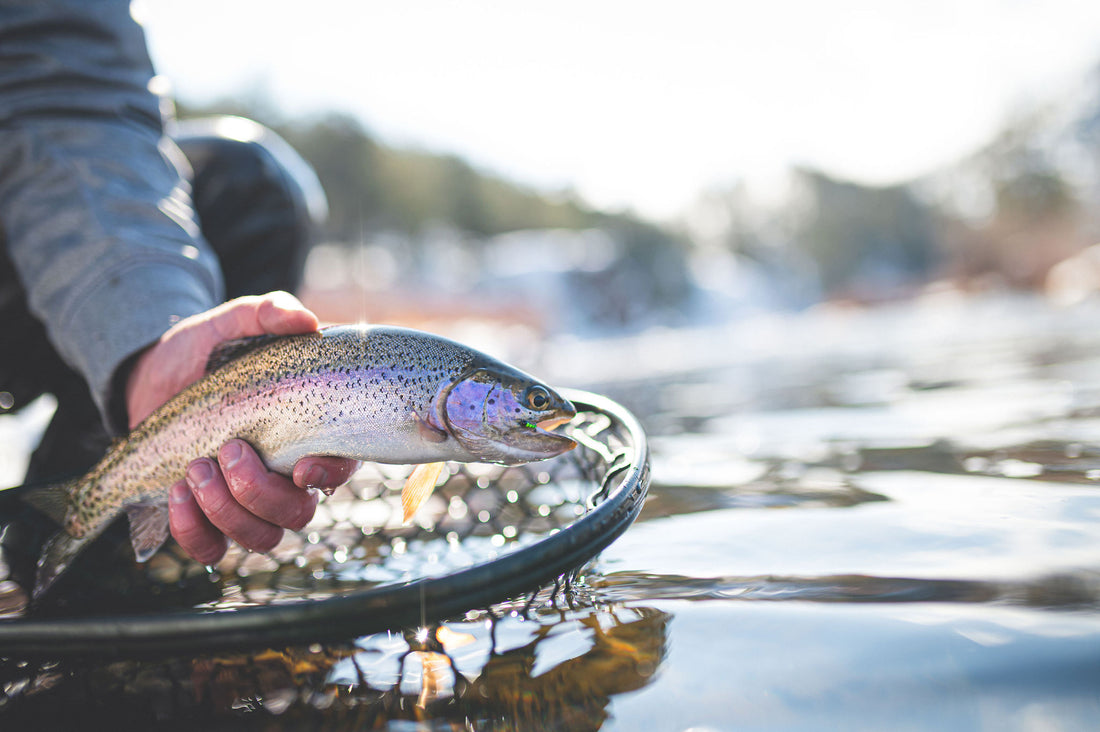
[[[576,449],[515,467],[449,465],[408,525],[408,469],[369,463],[268,554],[233,547],[207,568],[169,543],[139,565],[116,532],[63,578],[55,607],[34,612],[28,580],[10,572],[0,580],[0,657],[337,642],[568,586],[638,515],[649,459],[629,412],[564,395],[578,407],[563,428]]]

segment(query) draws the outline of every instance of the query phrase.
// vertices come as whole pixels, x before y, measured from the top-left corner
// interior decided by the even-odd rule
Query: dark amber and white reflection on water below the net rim
[[[42,667],[0,662],[0,710],[6,722],[35,726],[232,719],[234,730],[267,730],[278,718],[280,729],[435,720],[430,729],[597,730],[613,697],[653,679],[670,618],[648,607],[544,610],[353,645]]]

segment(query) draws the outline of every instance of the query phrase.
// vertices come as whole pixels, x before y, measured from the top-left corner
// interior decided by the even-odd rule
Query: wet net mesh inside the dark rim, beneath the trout
[[[435,493],[408,523],[403,521],[400,491],[410,468],[376,463],[364,465],[346,485],[324,496],[310,524],[286,532],[274,550],[252,554],[232,546],[216,567],[195,562],[174,543],[138,564],[125,540],[124,521],[119,522],[113,540],[94,546],[79,558],[84,564],[63,577],[68,584],[54,604],[30,612],[29,578],[13,573],[0,581],[0,613],[7,619],[0,622],[0,656],[6,643],[14,643],[13,634],[22,636],[19,647],[26,647],[28,632],[41,632],[48,644],[50,621],[55,619],[68,623],[72,638],[79,632],[74,623],[87,623],[89,633],[103,634],[105,616],[155,619],[165,613],[301,605],[315,605],[323,616],[316,610],[318,601],[370,600],[372,592],[493,567],[524,549],[529,550],[528,564],[541,565],[553,559],[547,539],[578,531],[580,520],[608,503],[613,493],[632,491],[628,524],[646,489],[637,484],[641,476],[636,465],[645,437],[631,424],[632,417],[616,416],[613,403],[601,408],[586,405],[584,394],[572,396],[579,413],[564,430],[576,439],[576,449],[521,466],[449,463]],[[636,484],[624,485],[631,469]],[[587,533],[623,529],[619,521],[606,528],[590,527]],[[543,545],[548,549],[540,554]],[[573,566],[587,558],[579,557]],[[518,569],[525,569],[522,562]],[[527,569],[538,576],[538,567]],[[485,589],[461,591],[482,599]],[[404,620],[415,624],[418,618],[411,612]],[[256,631],[262,633],[263,627],[258,619]]]

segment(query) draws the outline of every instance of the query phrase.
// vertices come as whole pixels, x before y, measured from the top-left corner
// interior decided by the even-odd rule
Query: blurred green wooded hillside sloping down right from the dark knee
[[[235,114],[274,130],[315,168],[329,217],[322,240],[354,249],[374,238],[398,241],[404,285],[431,270],[440,240],[457,242],[492,276],[494,237],[524,230],[600,230],[614,256],[598,271],[565,272],[563,306],[584,308],[594,329],[623,329],[681,317],[691,298],[689,248],[681,236],[627,212],[594,209],[572,192],[548,194],[479,171],[455,155],[398,149],[342,113],[279,119],[261,101],[180,106],[182,119]],[[446,236],[441,236],[446,232]],[[531,247],[544,239],[531,238]],[[544,255],[539,253],[540,256]],[[422,284],[422,283],[419,283]],[[574,318],[575,320],[575,318]]]

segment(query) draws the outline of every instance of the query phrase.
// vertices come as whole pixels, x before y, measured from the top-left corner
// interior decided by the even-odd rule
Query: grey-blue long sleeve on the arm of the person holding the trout
[[[0,227],[31,312],[105,416],[119,367],[222,298],[152,76],[125,0],[0,8]]]

